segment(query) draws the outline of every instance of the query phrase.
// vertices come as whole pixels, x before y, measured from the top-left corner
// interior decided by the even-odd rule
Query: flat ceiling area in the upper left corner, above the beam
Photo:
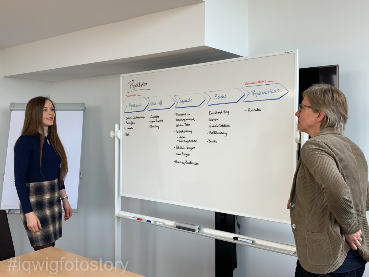
[[[201,0],[0,0],[0,49]]]

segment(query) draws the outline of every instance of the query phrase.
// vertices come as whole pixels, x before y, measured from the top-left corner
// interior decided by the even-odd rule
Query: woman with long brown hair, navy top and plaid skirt
[[[32,98],[26,107],[21,136],[14,146],[14,179],[20,214],[34,250],[55,246],[64,220],[72,216],[64,180],[68,163],[56,129],[55,104]]]

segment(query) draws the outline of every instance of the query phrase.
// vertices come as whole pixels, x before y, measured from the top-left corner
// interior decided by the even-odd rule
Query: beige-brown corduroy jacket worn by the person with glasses
[[[359,230],[358,251],[369,260],[368,196],[368,164],[356,144],[332,127],[304,144],[290,193],[290,216],[305,270],[325,274],[338,269],[350,249],[343,234]]]

